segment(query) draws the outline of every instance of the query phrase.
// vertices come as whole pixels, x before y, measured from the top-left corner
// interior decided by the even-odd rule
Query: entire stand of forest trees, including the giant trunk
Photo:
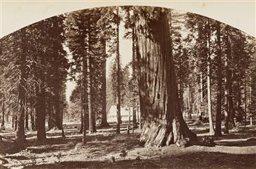
[[[121,22],[132,43],[132,60],[124,66]],[[64,136],[64,114],[81,119],[85,144],[86,130],[96,132],[97,122],[109,126],[110,105],[116,105],[116,133],[121,105],[133,107],[134,127],[140,107],[140,141],[148,146],[195,140],[183,115],[209,119],[209,132],[217,136],[222,122],[228,133],[255,118],[255,39],[203,16],[160,7],[78,10],[24,27],[0,44],[1,129],[11,119],[20,146],[24,130],[37,130],[44,141],[45,122],[47,130],[62,130]],[[77,84],[70,107],[68,79]]]

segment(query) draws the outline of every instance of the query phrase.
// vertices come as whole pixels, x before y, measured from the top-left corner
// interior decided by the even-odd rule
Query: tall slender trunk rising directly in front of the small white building
[[[119,16],[119,7],[117,7],[117,15]],[[117,123],[116,123],[116,133],[120,133],[120,123],[121,123],[121,79],[120,79],[120,73],[121,73],[121,67],[120,67],[120,56],[119,56],[119,23],[116,24],[116,74],[117,74],[117,86],[116,86],[116,117],[117,117]]]

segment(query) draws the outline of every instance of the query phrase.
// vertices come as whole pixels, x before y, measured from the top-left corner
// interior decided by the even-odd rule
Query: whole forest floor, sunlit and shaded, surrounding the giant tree
[[[208,136],[208,123],[187,121],[198,142]],[[87,135],[82,145],[79,122],[65,122],[61,130],[47,131],[45,142],[36,142],[36,132],[26,131],[26,149],[11,149],[15,133],[0,131],[0,168],[256,168],[256,126],[236,127],[229,134],[213,137],[216,146],[200,144],[187,148],[176,145],[143,148],[140,130],[127,133],[122,124],[116,135],[114,125]],[[9,150],[7,150],[9,149]],[[125,156],[126,155],[126,156]]]

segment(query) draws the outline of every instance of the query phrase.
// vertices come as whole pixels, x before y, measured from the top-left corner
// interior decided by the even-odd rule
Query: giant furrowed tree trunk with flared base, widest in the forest
[[[136,23],[140,109],[145,119],[140,141],[145,146],[197,139],[180,110],[168,20],[165,12],[158,12],[154,21],[139,16]]]

